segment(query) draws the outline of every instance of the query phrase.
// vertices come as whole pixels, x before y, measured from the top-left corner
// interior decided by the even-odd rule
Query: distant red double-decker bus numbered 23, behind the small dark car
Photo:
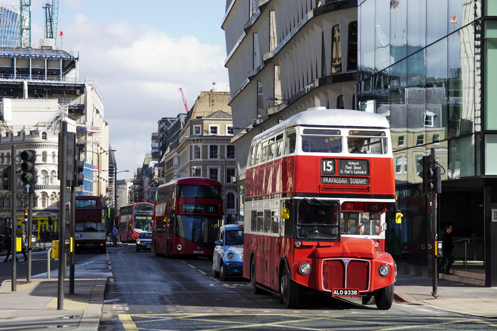
[[[122,243],[136,242],[142,231],[152,231],[154,204],[137,202],[119,208],[119,240]]]

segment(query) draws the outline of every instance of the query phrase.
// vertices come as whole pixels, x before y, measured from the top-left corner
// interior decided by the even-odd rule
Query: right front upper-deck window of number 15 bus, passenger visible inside
[[[347,136],[347,150],[352,154],[386,154],[388,152],[386,133],[350,130]]]

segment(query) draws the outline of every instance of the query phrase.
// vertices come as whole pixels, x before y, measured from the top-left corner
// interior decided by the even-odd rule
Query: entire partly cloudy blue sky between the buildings
[[[19,8],[19,0],[0,2]],[[31,0],[35,47],[44,34],[46,2]],[[129,170],[118,178],[133,178],[161,118],[184,113],[179,87],[189,107],[212,82],[215,90],[229,88],[225,8],[225,0],[59,0],[62,48],[79,52],[80,80],[98,86],[118,171]]]

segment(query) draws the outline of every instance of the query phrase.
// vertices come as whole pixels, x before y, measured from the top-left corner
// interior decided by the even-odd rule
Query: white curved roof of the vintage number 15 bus
[[[295,126],[389,129],[383,115],[348,109],[309,109],[257,134],[252,141]]]

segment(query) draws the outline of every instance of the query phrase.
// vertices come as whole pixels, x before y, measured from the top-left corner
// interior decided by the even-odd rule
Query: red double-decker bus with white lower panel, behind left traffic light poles
[[[104,209],[100,197],[76,197],[75,253],[82,251],[106,252],[107,234]],[[69,218],[66,219],[69,220]]]

